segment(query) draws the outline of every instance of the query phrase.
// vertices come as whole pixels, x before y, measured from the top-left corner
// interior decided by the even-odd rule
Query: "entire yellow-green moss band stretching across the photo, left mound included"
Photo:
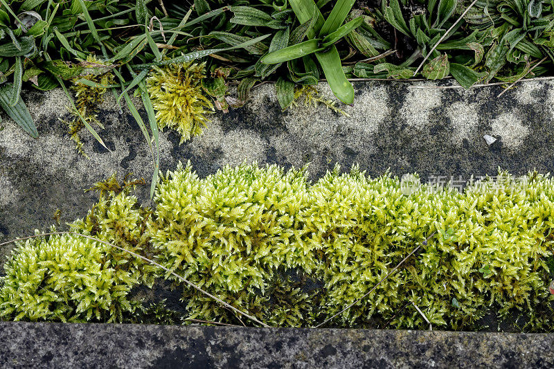
[[[371,179],[356,167],[310,183],[305,170],[276,165],[225,167],[205,179],[179,165],[161,179],[153,210],[127,188],[102,195],[71,228],[145,255],[264,323],[304,327],[364,296],[430,237],[329,324],[428,329],[427,319],[434,329],[472,330],[492,311],[520,316],[521,330],[553,332],[553,202],[554,179],[537,173],[516,180],[500,172],[458,192],[389,174]],[[89,260],[75,247],[100,245],[78,237],[20,243],[0,282],[0,317],[140,321],[131,287],[167,278],[182,291],[185,319],[252,324],[123,251],[101,246]],[[105,293],[111,304],[94,285],[67,279],[66,266],[83,263],[110,271],[102,286],[118,291]],[[37,270],[44,273],[30,278]],[[82,296],[93,313],[79,307]],[[182,321],[155,310],[141,307]]]

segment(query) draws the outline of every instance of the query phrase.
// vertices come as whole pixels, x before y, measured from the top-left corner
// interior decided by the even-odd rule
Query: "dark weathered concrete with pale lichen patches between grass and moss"
[[[522,82],[501,98],[499,86],[442,88],[449,83],[359,82],[355,105],[344,107],[350,118],[302,104],[282,114],[274,87],[263,85],[247,106],[215,114],[203,136],[179,145],[177,134],[164,132],[161,168],[190,160],[206,176],[242,161],[287,167],[310,162],[316,178],[334,163],[344,168],[359,163],[373,176],[390,168],[398,175],[418,172],[424,181],[494,175],[498,167],[515,174],[554,170],[554,82]],[[321,91],[332,97],[325,84]],[[1,114],[0,242],[48,228],[57,208],[62,224],[84,216],[96,195],[83,190],[113,172],[150,181],[151,156],[139,127],[106,95],[98,114],[105,129],[98,132],[111,152],[85,130],[90,159],[75,151],[66,133],[68,101],[61,90],[24,94],[37,122],[36,140]],[[484,134],[499,140],[488,146]],[[141,191],[147,199],[148,188]],[[0,262],[11,247],[0,247]]]

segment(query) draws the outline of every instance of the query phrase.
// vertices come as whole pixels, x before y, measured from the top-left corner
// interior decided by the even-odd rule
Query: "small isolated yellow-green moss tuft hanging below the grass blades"
[[[148,93],[161,129],[170,127],[181,134],[181,143],[202,134],[213,104],[204,96],[202,80],[206,63],[170,64],[154,71],[146,79]]]

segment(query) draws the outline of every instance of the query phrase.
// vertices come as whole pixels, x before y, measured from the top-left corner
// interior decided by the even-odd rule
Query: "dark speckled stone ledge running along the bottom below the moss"
[[[554,334],[0,322],[0,368],[552,368]]]

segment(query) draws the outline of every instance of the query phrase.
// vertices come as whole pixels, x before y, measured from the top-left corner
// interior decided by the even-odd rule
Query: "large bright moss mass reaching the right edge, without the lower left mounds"
[[[546,266],[553,253],[551,177],[515,181],[500,173],[463,193],[429,186],[408,193],[397,178],[370,179],[357,168],[341,174],[337,167],[310,185],[302,171],[274,166],[224,168],[206,179],[188,166],[163,180],[156,201],[149,232],[159,260],[265,322],[323,321],[433,233],[334,324],[428,327],[415,304],[435,327],[472,327],[490,309],[501,316],[519,310],[533,327],[542,319],[534,313],[549,311],[554,300]],[[322,288],[305,295],[306,285],[276,282],[277,271],[310,276]],[[279,283],[288,301],[267,307]],[[236,322],[188,287],[184,300],[196,318]],[[280,307],[302,301],[307,307],[287,321]]]

